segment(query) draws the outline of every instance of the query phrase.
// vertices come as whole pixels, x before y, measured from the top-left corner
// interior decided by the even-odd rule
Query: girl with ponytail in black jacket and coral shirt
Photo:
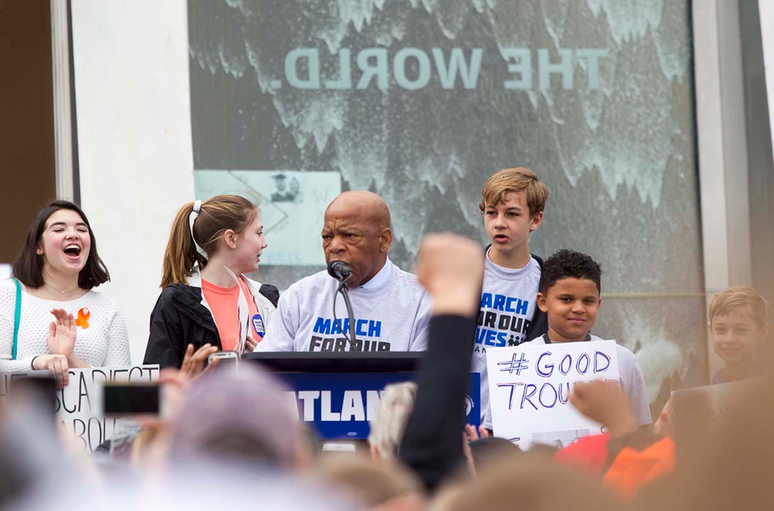
[[[202,355],[252,352],[279,299],[275,286],[244,275],[258,269],[266,246],[258,207],[245,197],[181,207],[164,251],[145,363],[179,368],[189,344]]]

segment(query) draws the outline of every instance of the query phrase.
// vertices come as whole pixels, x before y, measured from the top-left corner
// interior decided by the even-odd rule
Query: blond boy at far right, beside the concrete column
[[[769,334],[766,300],[752,287],[729,287],[715,295],[710,304],[712,347],[724,367],[713,383],[735,382],[757,376],[758,352]]]

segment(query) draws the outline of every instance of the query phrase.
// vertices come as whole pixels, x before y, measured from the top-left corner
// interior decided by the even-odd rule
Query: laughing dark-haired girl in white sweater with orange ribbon
[[[110,280],[80,207],[43,207],[0,281],[0,371],[48,370],[60,386],[68,369],[129,365],[126,323],[115,300],[92,290]]]

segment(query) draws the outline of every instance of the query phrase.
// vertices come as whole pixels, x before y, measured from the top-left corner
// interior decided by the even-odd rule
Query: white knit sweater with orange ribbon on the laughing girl
[[[19,340],[16,360],[11,359],[13,345],[16,286],[12,280],[0,280],[0,371],[29,371],[36,355],[48,353],[49,324],[52,309],[62,308],[79,318],[74,354],[94,367],[130,365],[129,336],[118,303],[97,291],[89,291],[76,300],[43,300],[22,290]]]

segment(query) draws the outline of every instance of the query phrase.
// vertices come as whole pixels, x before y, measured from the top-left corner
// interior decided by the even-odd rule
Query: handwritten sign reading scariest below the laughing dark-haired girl
[[[0,398],[5,399],[13,392],[15,379],[47,375],[47,371],[3,374],[0,376]],[[70,382],[57,390],[53,403],[57,422],[73,435],[76,445],[92,452],[111,438],[115,427],[116,419],[102,414],[104,383],[155,382],[158,379],[159,365],[70,369]]]

